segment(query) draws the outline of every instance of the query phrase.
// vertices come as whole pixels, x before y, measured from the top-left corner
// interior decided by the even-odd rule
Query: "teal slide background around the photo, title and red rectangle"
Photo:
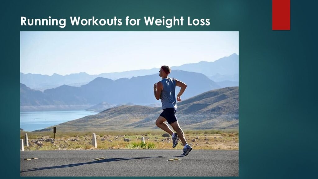
[[[272,30],[272,1],[12,1],[1,5],[1,168],[19,177],[20,31],[239,31],[239,178],[308,178],[317,170],[316,4],[291,0],[291,30]],[[66,18],[67,26],[20,26]],[[69,17],[210,18],[209,26],[71,26]],[[124,22],[124,21],[123,21]],[[185,21],[186,22],[186,21]],[[16,141],[16,142],[14,142]],[[11,144],[12,143],[12,144]],[[170,177],[172,178],[172,177]]]

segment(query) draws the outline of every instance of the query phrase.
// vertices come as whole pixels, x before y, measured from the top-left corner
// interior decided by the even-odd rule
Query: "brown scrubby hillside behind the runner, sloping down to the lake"
[[[238,129],[239,87],[215,89],[177,104],[183,129]],[[60,131],[156,129],[160,107],[122,105],[57,125]],[[46,130],[51,130],[48,127]]]

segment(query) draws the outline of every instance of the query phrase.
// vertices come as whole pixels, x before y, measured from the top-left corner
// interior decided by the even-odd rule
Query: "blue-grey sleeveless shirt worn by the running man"
[[[164,78],[160,81],[163,89],[161,91],[160,100],[162,103],[162,109],[176,108],[176,79]]]

